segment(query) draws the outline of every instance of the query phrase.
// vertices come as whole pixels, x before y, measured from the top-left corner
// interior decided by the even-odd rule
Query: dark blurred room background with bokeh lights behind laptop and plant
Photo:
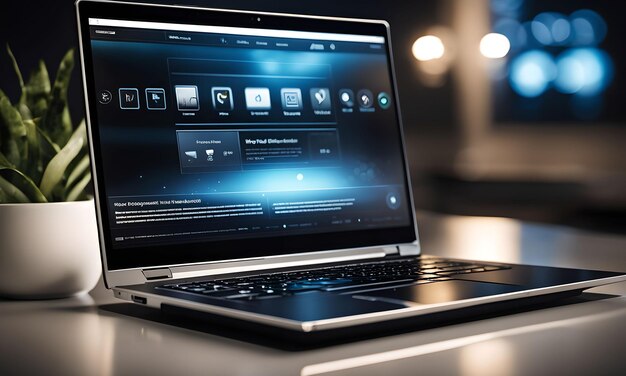
[[[176,3],[389,21],[418,210],[626,232],[621,2]],[[71,0],[12,2],[0,30],[25,75],[78,44]],[[4,48],[0,88],[17,101]],[[69,95],[79,119],[79,69]]]

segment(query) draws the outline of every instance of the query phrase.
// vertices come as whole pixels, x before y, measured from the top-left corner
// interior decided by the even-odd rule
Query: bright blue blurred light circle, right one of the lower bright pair
[[[564,94],[593,96],[601,93],[613,76],[608,54],[596,48],[575,48],[557,58],[554,87]]]

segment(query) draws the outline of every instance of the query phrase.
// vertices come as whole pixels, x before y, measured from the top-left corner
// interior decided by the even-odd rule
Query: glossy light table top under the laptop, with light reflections
[[[419,222],[429,254],[626,270],[624,236],[497,218]],[[506,316],[285,351],[174,326],[154,310],[117,313],[107,306],[126,303],[100,283],[71,299],[0,301],[0,374],[626,374],[626,283],[590,291]]]

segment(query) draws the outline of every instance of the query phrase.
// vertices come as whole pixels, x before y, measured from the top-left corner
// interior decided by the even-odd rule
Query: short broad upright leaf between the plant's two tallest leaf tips
[[[50,96],[50,76],[43,60],[39,60],[37,68],[30,74],[28,82],[22,89],[18,108],[25,119],[38,118],[48,109]],[[28,112],[26,112],[26,107]]]

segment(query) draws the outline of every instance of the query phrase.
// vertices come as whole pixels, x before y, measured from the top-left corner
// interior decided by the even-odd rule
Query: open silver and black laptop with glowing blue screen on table
[[[626,280],[422,254],[385,21],[76,8],[116,298],[312,338]]]

